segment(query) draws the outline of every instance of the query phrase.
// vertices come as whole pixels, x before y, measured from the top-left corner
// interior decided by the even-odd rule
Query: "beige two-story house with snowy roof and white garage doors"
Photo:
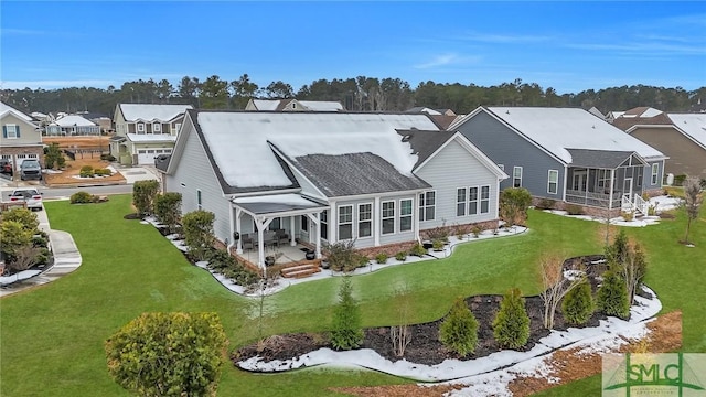
[[[154,164],[159,154],[171,154],[191,105],[118,104],[110,154],[121,164]]]

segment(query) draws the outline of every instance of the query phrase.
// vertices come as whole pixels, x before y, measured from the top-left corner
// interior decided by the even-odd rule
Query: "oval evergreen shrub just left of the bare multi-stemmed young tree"
[[[530,316],[520,289],[511,289],[500,302],[500,310],[493,320],[493,336],[503,348],[520,348],[527,344]]]

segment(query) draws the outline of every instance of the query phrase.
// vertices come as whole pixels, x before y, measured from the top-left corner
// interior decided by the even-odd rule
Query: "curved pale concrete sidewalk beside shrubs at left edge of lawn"
[[[20,272],[17,275],[19,281],[15,281],[15,276],[0,277],[0,279],[2,279],[0,280],[0,283],[14,281],[11,285],[3,285],[0,288],[0,298],[52,282],[57,278],[78,269],[82,264],[83,259],[81,257],[81,253],[78,251],[72,235],[63,230],[52,230],[49,224],[46,211],[38,211],[34,212],[34,214],[36,214],[38,221],[40,222],[40,229],[49,234],[50,245],[52,253],[54,254],[54,265],[38,276]],[[23,279],[23,273],[30,278]]]

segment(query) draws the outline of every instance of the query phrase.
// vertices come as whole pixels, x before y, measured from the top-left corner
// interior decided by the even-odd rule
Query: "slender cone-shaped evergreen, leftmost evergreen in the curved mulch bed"
[[[363,343],[363,329],[357,302],[353,298],[351,276],[344,276],[339,289],[339,303],[333,308],[331,344],[335,350],[351,350]]]

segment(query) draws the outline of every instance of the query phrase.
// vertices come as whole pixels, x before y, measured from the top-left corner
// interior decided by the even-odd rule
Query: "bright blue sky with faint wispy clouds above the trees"
[[[3,88],[119,87],[247,73],[499,85],[559,94],[706,85],[702,1],[0,2]]]

